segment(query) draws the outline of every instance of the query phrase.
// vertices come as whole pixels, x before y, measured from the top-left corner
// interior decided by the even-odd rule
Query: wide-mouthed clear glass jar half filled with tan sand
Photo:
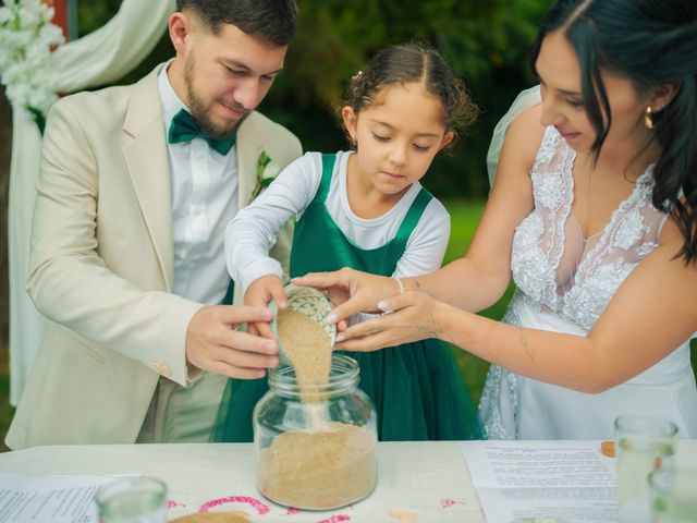
[[[304,387],[295,368],[269,373],[254,409],[256,482],[280,504],[329,510],[358,501],[377,478],[376,414],[355,360],[332,354],[327,384]]]

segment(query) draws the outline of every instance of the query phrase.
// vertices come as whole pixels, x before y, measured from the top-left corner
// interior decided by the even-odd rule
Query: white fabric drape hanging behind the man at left
[[[152,50],[173,11],[174,0],[123,0],[107,25],[51,54],[56,90],[74,93],[117,81],[132,71]],[[16,405],[34,366],[46,318],[36,311],[25,290],[41,136],[36,123],[19,108],[13,111],[12,125],[8,208],[10,403]]]

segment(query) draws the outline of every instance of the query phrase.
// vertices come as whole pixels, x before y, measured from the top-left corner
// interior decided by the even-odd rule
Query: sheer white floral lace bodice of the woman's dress
[[[574,159],[574,150],[548,127],[531,171],[534,209],[513,238],[511,269],[518,291],[506,318],[511,323],[517,323],[515,301],[524,300],[589,330],[658,245],[667,215],[651,203],[652,166],[604,230],[586,240],[572,210]]]

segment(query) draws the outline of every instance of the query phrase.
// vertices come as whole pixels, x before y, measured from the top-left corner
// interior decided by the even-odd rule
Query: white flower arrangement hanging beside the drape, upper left
[[[65,41],[51,23],[54,10],[41,0],[4,0],[0,8],[0,82],[15,110],[39,121],[58,99],[50,74],[50,53]]]

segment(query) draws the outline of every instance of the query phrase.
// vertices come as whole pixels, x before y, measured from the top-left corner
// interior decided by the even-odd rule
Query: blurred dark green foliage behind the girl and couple
[[[81,34],[103,25],[119,0],[78,2]],[[346,147],[339,124],[346,81],[378,49],[405,41],[437,48],[484,109],[460,145],[440,155],[424,180],[437,196],[484,196],[491,131],[515,95],[531,85],[527,50],[551,0],[297,0],[301,24],[285,71],[260,110],[291,129],[306,150]],[[173,56],[167,35],[120,83]]]

